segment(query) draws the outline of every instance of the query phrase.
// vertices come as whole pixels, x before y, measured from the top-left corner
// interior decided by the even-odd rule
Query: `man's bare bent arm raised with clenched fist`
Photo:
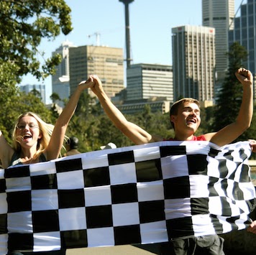
[[[237,79],[242,83],[243,95],[240,110],[234,123],[225,126],[216,133],[206,134],[210,142],[224,146],[237,139],[246,129],[250,127],[253,113],[252,101],[252,73],[249,70],[240,68],[235,73]],[[229,103],[229,102],[227,102]],[[207,139],[207,138],[206,138]]]

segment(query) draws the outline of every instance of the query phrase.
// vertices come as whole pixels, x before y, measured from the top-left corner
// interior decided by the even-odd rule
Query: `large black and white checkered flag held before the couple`
[[[250,154],[248,142],[157,142],[0,170],[0,254],[246,228]]]

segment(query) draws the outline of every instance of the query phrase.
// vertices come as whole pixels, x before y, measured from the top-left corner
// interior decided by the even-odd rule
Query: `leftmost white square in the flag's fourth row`
[[[7,228],[10,233],[32,233],[32,212],[18,212],[7,214]]]

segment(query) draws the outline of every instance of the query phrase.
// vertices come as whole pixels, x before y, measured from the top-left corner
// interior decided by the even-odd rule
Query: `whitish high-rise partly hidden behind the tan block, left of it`
[[[60,65],[56,67],[55,75],[52,75],[52,93],[57,93],[61,100],[70,96],[69,50],[71,47],[76,46],[72,42],[65,41],[55,52],[52,52],[52,55],[58,53],[62,57]],[[63,106],[62,102],[59,102],[59,104]]]

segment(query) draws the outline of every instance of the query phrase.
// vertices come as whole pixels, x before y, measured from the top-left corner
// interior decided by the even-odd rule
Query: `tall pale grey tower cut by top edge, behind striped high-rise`
[[[234,26],[234,0],[202,0],[202,24],[215,28],[216,78],[224,79],[228,68],[229,29]]]

